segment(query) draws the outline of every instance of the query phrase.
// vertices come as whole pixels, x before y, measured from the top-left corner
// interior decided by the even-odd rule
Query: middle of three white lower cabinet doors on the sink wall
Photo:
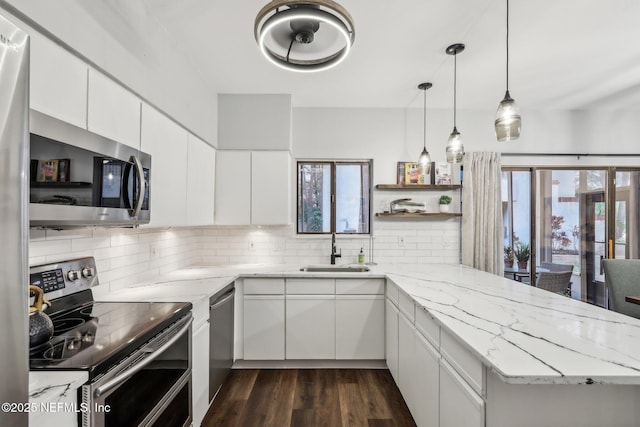
[[[287,359],[335,359],[334,295],[287,295]]]

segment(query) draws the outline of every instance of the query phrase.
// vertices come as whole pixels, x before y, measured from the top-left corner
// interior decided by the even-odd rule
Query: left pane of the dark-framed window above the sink
[[[298,233],[331,231],[331,164],[298,164]]]

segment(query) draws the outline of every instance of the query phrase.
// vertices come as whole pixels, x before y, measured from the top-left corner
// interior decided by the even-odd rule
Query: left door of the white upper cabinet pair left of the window
[[[251,152],[216,153],[215,223],[251,223]]]

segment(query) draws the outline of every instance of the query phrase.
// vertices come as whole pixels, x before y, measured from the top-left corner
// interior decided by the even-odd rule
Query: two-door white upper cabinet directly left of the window
[[[288,151],[218,150],[215,223],[290,224],[290,177]]]

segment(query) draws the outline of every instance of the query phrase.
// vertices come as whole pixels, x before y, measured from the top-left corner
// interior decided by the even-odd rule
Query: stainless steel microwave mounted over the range
[[[31,227],[149,222],[149,154],[33,110],[30,132]]]

